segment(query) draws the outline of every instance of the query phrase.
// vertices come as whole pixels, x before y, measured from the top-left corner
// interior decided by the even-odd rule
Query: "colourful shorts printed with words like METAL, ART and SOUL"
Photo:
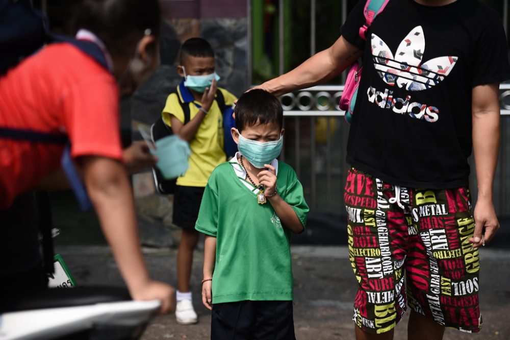
[[[468,188],[392,186],[351,169],[344,199],[349,259],[359,282],[356,325],[387,332],[407,303],[446,327],[480,330],[480,262],[469,242],[474,220]]]

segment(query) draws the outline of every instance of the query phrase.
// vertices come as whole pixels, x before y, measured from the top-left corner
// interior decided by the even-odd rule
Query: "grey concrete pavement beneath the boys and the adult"
[[[79,285],[122,285],[115,261],[106,246],[56,246]],[[447,329],[445,340],[510,339],[510,251],[483,248],[480,252],[480,305],[483,329],[467,334]],[[151,276],[176,283],[174,249],[145,248]],[[346,246],[293,246],[294,324],[297,339],[354,339],[352,302],[356,281]],[[147,328],[143,340],[208,339],[210,312],[201,305],[203,253],[195,252],[192,292],[199,323],[181,326],[174,315],[161,315]],[[406,338],[406,317],[396,327],[395,339]]]

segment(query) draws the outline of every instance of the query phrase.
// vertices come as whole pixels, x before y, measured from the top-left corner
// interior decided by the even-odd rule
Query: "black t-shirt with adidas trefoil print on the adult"
[[[390,0],[365,43],[365,3],[341,29],[365,51],[347,162],[391,184],[467,186],[472,88],[510,78],[499,15],[475,0]]]

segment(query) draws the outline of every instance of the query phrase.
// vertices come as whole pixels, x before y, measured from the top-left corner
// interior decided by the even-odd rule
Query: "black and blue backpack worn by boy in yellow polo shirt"
[[[176,93],[176,91],[172,93]],[[186,125],[190,121],[190,107],[188,103],[181,101],[181,97],[179,95],[177,95],[177,98],[179,98],[179,104],[183,109],[184,125]],[[220,108],[223,115],[223,151],[225,152],[227,159],[232,158],[237,152],[237,144],[232,138],[232,134],[230,132],[231,128],[236,127],[236,121],[232,117],[234,111],[231,106],[225,105],[225,98],[219,89],[216,91],[215,101],[218,103],[218,107]],[[165,124],[163,117],[158,118],[156,123],[152,124],[150,127],[150,138],[154,143],[157,140],[172,134],[172,128]],[[175,192],[177,179],[165,179],[160,169],[157,167],[152,168],[152,175],[154,176],[156,191],[158,191],[158,193],[161,195],[168,195]]]

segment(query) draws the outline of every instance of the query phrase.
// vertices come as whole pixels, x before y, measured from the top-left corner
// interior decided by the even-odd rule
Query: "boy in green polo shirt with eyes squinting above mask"
[[[309,208],[292,167],[276,160],[278,100],[252,90],[235,114],[240,152],[214,169],[195,226],[206,234],[202,302],[213,310],[211,339],[294,339],[290,236],[304,230]]]

